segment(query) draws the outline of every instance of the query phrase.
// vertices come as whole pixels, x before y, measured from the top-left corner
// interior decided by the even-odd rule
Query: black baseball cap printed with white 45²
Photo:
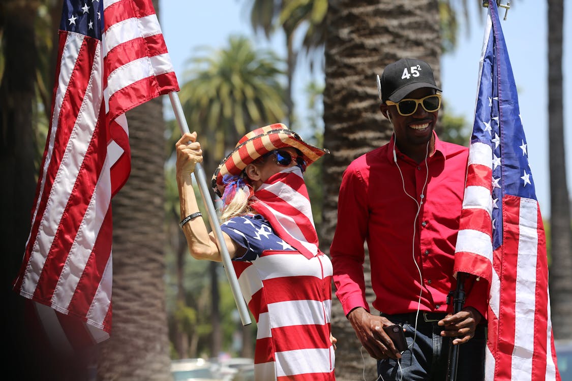
[[[431,87],[441,91],[433,78],[433,70],[425,61],[415,58],[402,58],[390,63],[380,78],[382,102],[401,101],[407,94],[421,87]]]

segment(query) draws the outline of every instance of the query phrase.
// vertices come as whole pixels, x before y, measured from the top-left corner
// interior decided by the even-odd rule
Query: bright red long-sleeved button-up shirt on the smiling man
[[[416,163],[395,147],[398,168],[392,137],[387,145],[355,159],[344,172],[330,255],[336,295],[346,315],[356,307],[369,311],[364,241],[378,311],[415,312],[419,294],[420,311],[452,311],[446,298],[456,287],[452,272],[468,149],[434,135],[435,152],[427,158],[428,169],[424,161]],[[486,317],[486,283],[475,280],[468,279],[465,306]]]

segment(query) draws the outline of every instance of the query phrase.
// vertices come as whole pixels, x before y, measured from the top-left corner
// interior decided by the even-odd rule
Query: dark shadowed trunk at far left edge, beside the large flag
[[[0,242],[3,255],[2,296],[7,304],[5,324],[7,339],[3,342],[4,362],[18,369],[18,378],[57,379],[65,371],[51,356],[41,351],[40,340],[29,335],[25,323],[25,298],[12,291],[11,283],[22,264],[27,236],[30,232],[30,210],[34,202],[38,157],[33,128],[35,102],[35,63],[37,49],[34,23],[37,1],[7,0],[0,3],[0,30],[5,57],[0,83]],[[25,49],[22,47],[25,46]]]

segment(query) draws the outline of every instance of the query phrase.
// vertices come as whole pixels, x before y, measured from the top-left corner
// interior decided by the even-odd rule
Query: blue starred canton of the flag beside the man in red
[[[537,199],[517,87],[502,31],[496,29],[484,54],[471,140],[492,149],[492,246],[496,248],[502,244],[503,195]]]

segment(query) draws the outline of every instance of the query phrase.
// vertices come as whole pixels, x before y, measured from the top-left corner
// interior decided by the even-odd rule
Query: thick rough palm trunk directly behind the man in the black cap
[[[331,244],[336,227],[341,175],[359,155],[387,143],[391,125],[379,111],[376,74],[403,57],[427,61],[439,78],[441,53],[438,0],[331,0],[325,43],[324,207],[321,246]],[[438,81],[439,82],[439,81]],[[329,252],[329,250],[327,250]],[[369,260],[364,265],[366,298],[371,303]],[[375,311],[372,311],[375,313]],[[361,345],[335,300],[332,330],[338,339],[336,379],[355,380],[366,371],[376,378],[375,360]]]

